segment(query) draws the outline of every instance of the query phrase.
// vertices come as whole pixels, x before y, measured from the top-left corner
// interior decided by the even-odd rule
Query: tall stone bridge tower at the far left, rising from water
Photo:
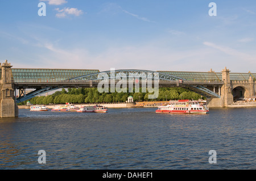
[[[11,64],[5,61],[1,65],[0,82],[0,117],[18,117],[18,106],[14,98],[14,82],[11,74]]]

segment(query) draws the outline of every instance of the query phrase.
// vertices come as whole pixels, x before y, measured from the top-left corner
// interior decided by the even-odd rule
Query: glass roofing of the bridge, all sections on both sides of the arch
[[[92,73],[99,73],[99,70],[92,69],[11,69],[14,82],[59,82],[66,79],[80,77]],[[172,74],[187,81],[216,81],[222,80],[222,73],[196,72],[196,71],[159,71]],[[255,80],[256,73],[229,73],[231,81],[248,81],[249,77]]]

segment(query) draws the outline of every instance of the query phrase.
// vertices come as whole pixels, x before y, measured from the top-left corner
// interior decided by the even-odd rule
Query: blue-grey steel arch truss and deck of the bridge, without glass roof
[[[216,94],[214,91],[209,90],[207,86],[220,86],[223,85],[221,81],[207,81],[207,82],[197,82],[197,81],[187,81],[187,79],[183,77],[177,77],[176,75],[172,75],[171,73],[164,73],[161,71],[150,71],[150,70],[110,70],[110,71],[97,71],[94,73],[88,73],[84,75],[77,74],[73,77],[68,77],[66,79],[62,79],[57,82],[15,82],[15,89],[36,89],[28,94],[24,94],[23,96],[19,96],[16,99],[17,103],[23,102],[24,100],[31,99],[35,96],[45,94],[46,92],[50,92],[53,90],[57,90],[60,88],[71,88],[71,87],[97,87],[98,83],[103,79],[109,81],[109,83],[113,82],[118,83],[123,81],[124,79],[135,82],[136,80],[141,82],[141,80],[151,79],[152,83],[159,84],[159,87],[184,87],[185,89],[195,91],[200,95],[206,97],[216,97],[220,98],[220,95]]]

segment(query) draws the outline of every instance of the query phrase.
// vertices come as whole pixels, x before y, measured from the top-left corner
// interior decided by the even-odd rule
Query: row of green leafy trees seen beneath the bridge
[[[148,99],[149,92],[98,92],[97,88],[72,88],[56,91],[48,96],[36,96],[26,100],[18,105],[26,105],[28,101],[31,104],[65,104],[65,103],[120,103],[126,102],[127,98],[133,96],[134,102],[143,101],[167,101],[190,99],[199,100],[201,95],[196,92],[186,90],[181,87],[159,88],[159,96],[157,99]]]

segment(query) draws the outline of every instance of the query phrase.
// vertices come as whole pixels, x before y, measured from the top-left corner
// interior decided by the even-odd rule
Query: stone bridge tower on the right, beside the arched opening
[[[229,104],[233,103],[229,72],[229,69],[226,69],[226,67],[222,70],[222,81],[224,82],[224,85],[221,87],[222,107],[227,107]]]

